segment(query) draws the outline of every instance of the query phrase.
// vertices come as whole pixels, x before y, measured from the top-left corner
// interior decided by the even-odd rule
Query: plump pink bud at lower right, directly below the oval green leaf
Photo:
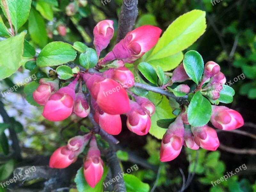
[[[191,131],[194,135],[194,140],[198,146],[206,150],[215,151],[219,145],[219,139],[216,131],[204,125],[203,127],[191,127]]]

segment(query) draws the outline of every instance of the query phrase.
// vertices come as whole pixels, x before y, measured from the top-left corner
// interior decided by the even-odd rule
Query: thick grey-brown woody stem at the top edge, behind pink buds
[[[116,37],[116,43],[118,43],[124,36],[132,30],[135,20],[138,16],[137,8],[138,0],[124,0],[121,6],[119,19],[118,19],[118,31]]]

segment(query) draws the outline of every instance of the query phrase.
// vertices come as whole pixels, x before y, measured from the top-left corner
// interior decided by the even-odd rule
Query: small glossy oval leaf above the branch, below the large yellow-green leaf
[[[157,74],[155,69],[146,62],[141,62],[138,65],[138,69],[140,70],[141,74],[148,79],[149,82],[157,85]]]

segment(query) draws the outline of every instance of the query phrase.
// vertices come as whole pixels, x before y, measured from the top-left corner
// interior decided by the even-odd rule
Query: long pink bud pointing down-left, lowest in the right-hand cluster
[[[164,134],[160,148],[160,161],[172,161],[181,151],[184,139],[184,125],[179,115]]]

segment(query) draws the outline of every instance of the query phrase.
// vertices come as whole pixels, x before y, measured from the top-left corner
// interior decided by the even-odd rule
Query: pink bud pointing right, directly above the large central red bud
[[[132,87],[134,84],[134,76],[126,67],[109,69],[103,72],[103,76],[120,83],[124,88]]]

